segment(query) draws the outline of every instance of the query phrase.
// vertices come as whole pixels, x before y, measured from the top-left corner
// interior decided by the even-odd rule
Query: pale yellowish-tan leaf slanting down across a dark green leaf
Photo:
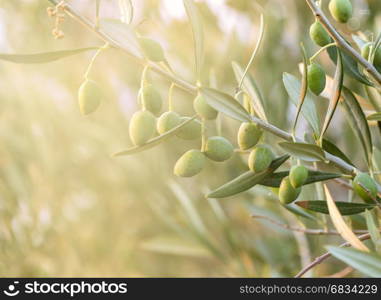
[[[326,185],[324,185],[324,191],[327,199],[329,216],[340,236],[348,243],[350,243],[352,247],[362,251],[369,251],[364,243],[359,240],[359,238],[345,223],[343,216],[341,215],[335,201],[333,201],[332,195]]]

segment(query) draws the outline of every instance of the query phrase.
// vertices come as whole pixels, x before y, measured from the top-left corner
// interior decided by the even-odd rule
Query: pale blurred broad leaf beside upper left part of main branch
[[[131,25],[119,19],[104,18],[99,20],[100,31],[107,34],[121,48],[127,49],[132,55],[141,57],[141,50],[136,34]]]

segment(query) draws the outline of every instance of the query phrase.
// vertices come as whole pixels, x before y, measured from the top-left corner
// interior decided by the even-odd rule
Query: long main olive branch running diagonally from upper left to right
[[[59,0],[48,0],[48,1],[50,1],[54,5],[57,5],[59,3]],[[64,9],[69,16],[71,16],[72,18],[77,20],[80,24],[85,26],[90,31],[97,34],[103,41],[108,42],[111,47],[117,48],[117,49],[125,52],[126,54],[128,54],[130,57],[132,57],[133,59],[135,59],[138,63],[140,63],[142,65],[148,64],[150,67],[150,70],[162,75],[163,77],[165,77],[169,81],[175,83],[178,87],[189,92],[190,94],[192,94],[192,95],[197,94],[197,91],[198,91],[197,86],[181,79],[179,76],[177,76],[174,73],[169,73],[169,72],[163,70],[161,67],[159,67],[157,64],[155,64],[153,62],[147,62],[147,60],[145,60],[143,57],[138,57],[138,56],[132,54],[128,49],[123,48],[123,46],[121,46],[118,42],[114,41],[111,37],[109,37],[106,33],[104,33],[102,31],[102,29],[96,28],[96,26],[94,26],[92,24],[92,22],[90,22],[88,19],[86,19],[83,16],[81,16],[80,14],[78,14],[69,4],[65,4]],[[293,141],[292,135],[289,134],[288,132],[285,132],[285,131],[279,129],[278,127],[276,127],[272,124],[269,124],[269,123],[267,123],[261,119],[258,119],[256,117],[251,117],[251,118],[252,118],[252,121],[254,123],[256,123],[259,127],[261,127],[263,130],[268,131],[268,132],[270,132],[270,133],[272,133],[272,134],[274,134],[274,135],[276,135],[276,136],[278,136],[284,140]],[[301,139],[297,139],[297,142],[304,142],[304,141]],[[338,167],[342,170],[345,170],[346,172],[348,172],[350,174],[354,174],[357,172],[357,169],[355,167],[351,166],[350,164],[348,164],[347,162],[345,162],[341,158],[334,156],[328,152],[326,152],[325,155],[326,155],[327,160],[329,160],[332,163],[332,165],[335,165],[336,167]],[[381,187],[379,187],[379,191],[381,192]]]

